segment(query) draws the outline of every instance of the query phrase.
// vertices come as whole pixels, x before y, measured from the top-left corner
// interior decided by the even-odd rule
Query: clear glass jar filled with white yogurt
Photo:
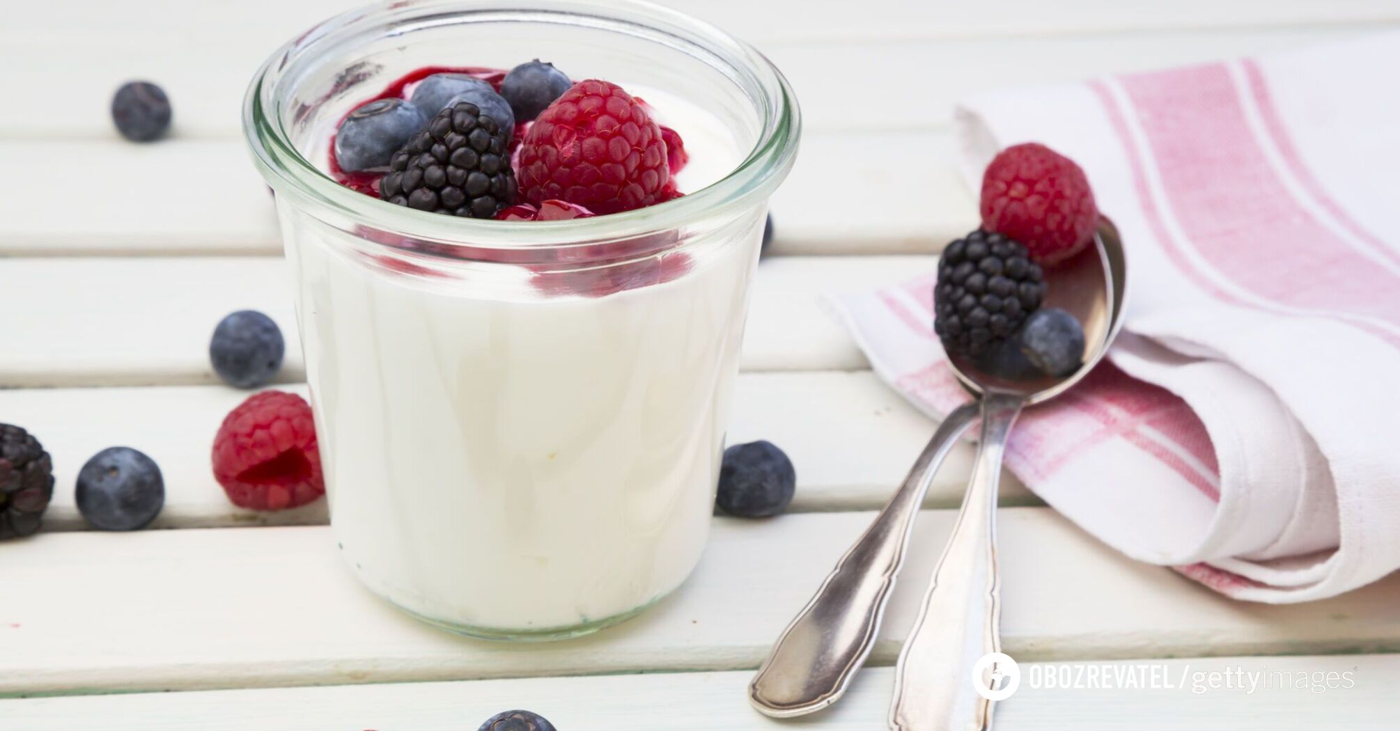
[[[686,140],[687,195],[508,223],[328,175],[336,123],[391,80],[536,56],[645,98]],[[357,576],[500,639],[582,634],[675,590],[708,534],[767,199],[797,153],[781,74],[645,3],[414,0],[277,50],[244,127],[276,190],[330,522]]]

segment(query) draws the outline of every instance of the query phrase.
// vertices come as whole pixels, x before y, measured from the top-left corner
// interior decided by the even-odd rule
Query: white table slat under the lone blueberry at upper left
[[[171,97],[175,137],[239,137],[246,85],[258,64],[281,41],[301,31],[290,21],[279,15],[276,22],[245,34],[211,39],[186,34],[150,39],[126,34],[21,35],[0,45],[0,88],[31,102],[0,109],[0,133],[118,141],[106,108],[112,92],[130,78],[150,78]],[[273,36],[274,27],[281,28],[280,38]],[[1273,53],[1375,29],[1368,24],[938,41],[833,39],[763,42],[760,50],[792,83],[809,133],[869,133],[944,127],[958,99],[993,88]],[[840,45],[833,45],[837,41]],[[32,73],[34,64],[42,64],[45,73]],[[63,108],[66,113],[35,115],[34,105]]]

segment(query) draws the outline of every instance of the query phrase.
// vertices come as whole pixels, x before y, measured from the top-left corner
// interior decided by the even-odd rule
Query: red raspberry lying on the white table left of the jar
[[[311,406],[295,394],[263,391],[228,412],[213,462],[214,479],[238,507],[293,508],[326,492]]]

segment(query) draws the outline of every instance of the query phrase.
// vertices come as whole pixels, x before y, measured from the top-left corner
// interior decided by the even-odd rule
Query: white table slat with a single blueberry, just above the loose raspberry
[[[742,356],[745,370],[861,370],[865,357],[823,308],[830,291],[860,291],[928,272],[932,256],[798,258],[759,265]],[[279,378],[305,378],[286,262],[277,258],[0,259],[0,387],[189,385],[217,382],[214,325],[260,309],[287,337]]]

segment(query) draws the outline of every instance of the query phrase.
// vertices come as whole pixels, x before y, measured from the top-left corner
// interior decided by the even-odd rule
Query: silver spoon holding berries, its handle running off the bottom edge
[[[953,373],[981,396],[981,441],[958,522],[934,567],[914,629],[895,671],[889,727],[895,731],[967,731],[991,727],[994,700],[973,682],[977,661],[1001,653],[1001,580],[997,570],[997,483],[1007,438],[1026,406],[1079,382],[1123,326],[1127,262],[1117,228],[1105,218],[1095,246],[1054,269],[1047,305],[1079,318],[1091,343],[1084,364],[1065,378],[1004,381],[951,358]],[[995,696],[998,664],[984,664],[980,689]]]

